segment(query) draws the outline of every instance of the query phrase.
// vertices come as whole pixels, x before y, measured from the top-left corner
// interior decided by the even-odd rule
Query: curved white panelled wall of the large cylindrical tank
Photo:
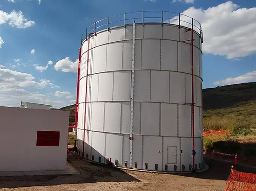
[[[133,26],[90,38],[84,156],[129,167]],[[194,32],[195,164],[203,162],[202,51]],[[192,165],[191,32],[136,24],[132,167],[189,171]],[[186,41],[186,42],[182,42]],[[78,149],[82,153],[88,41],[82,45]],[[190,105],[189,105],[190,104]],[[182,165],[185,169],[182,169]],[[201,165],[200,165],[201,166]],[[197,168],[198,168],[197,167]]]

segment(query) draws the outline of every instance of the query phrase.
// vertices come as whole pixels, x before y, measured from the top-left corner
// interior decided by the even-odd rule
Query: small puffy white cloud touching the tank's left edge
[[[62,60],[59,60],[54,65],[55,70],[61,70],[63,72],[77,72],[78,69],[78,59],[75,62],[72,62],[69,57],[65,57]]]

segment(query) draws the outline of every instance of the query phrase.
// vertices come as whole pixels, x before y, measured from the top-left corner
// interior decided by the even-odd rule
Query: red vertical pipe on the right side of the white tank
[[[193,24],[192,24],[193,25]],[[193,170],[195,170],[195,121],[194,121],[194,39],[193,26],[191,29],[191,76],[192,76],[192,140],[193,140]]]

